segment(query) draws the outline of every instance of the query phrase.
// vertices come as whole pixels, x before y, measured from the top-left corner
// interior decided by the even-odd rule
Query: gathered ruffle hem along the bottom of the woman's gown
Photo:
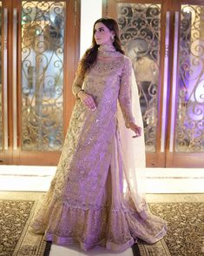
[[[44,233],[44,239],[59,246],[77,243],[84,251],[103,246],[123,252],[138,238],[152,244],[167,232],[166,222],[151,212],[146,219],[141,219],[136,212],[122,207],[116,210],[111,206],[82,209],[52,199],[49,205],[41,205],[36,213],[32,232]]]

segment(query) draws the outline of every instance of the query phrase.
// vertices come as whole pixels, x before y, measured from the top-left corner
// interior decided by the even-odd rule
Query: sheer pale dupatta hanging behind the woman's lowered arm
[[[141,137],[132,138],[134,131],[127,129],[120,106],[117,108],[117,125],[119,131],[119,146],[122,153],[123,165],[123,197],[146,219],[148,210],[145,199],[145,143],[141,107],[135,73],[132,70],[131,83],[132,113],[135,117],[135,124],[142,128]]]

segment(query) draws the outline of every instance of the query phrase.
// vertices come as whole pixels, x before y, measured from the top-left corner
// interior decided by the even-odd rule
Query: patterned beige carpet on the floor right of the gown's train
[[[151,212],[168,221],[164,240],[172,256],[204,255],[204,203],[148,204]]]

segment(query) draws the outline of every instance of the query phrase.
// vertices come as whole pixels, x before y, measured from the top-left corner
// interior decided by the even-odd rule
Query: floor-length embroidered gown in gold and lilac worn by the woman
[[[122,195],[116,111],[119,102],[126,125],[134,121],[131,66],[128,57],[104,47],[85,77],[76,73],[73,93],[83,88],[97,108],[90,111],[76,98],[56,175],[31,224],[57,245],[122,252],[138,238],[155,243],[167,232],[163,219],[151,212],[142,217]]]

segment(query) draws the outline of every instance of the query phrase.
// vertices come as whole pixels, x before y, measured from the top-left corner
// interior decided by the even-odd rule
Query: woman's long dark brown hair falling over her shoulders
[[[95,24],[98,24],[98,23],[104,24],[109,30],[115,32],[115,40],[113,42],[113,45],[115,46],[115,50],[120,51],[122,54],[124,54],[124,51],[122,50],[122,44],[119,38],[118,24],[115,21],[115,19],[109,18],[109,17],[102,17],[95,21]],[[95,24],[93,27],[92,45],[87,51],[85,51],[79,65],[79,72],[82,77],[85,75],[86,71],[89,71],[90,66],[92,64],[95,64],[98,48],[100,46],[95,42]]]

